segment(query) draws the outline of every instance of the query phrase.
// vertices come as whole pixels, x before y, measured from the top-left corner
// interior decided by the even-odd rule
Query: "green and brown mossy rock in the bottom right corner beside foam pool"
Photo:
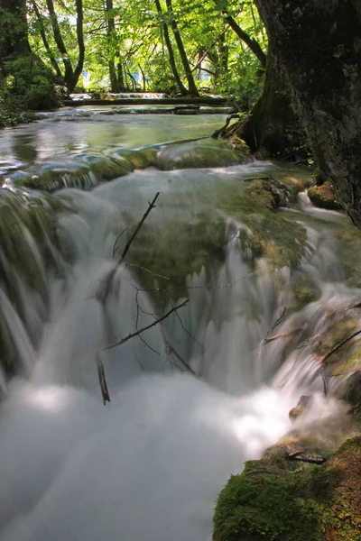
[[[245,463],[219,494],[213,541],[358,541],[360,461],[356,437],[322,465],[290,467],[280,456]]]

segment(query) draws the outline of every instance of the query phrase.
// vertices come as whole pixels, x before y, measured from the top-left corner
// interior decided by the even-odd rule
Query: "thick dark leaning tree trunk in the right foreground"
[[[255,0],[324,176],[361,228],[361,4]]]

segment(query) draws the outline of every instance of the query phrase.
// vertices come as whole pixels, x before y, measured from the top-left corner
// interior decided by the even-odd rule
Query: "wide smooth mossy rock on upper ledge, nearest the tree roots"
[[[246,153],[234,151],[225,141],[203,139],[167,145],[158,154],[161,170],[228,167],[243,163]]]

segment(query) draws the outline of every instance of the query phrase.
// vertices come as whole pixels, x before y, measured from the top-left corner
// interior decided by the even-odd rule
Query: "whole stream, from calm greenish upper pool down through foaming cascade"
[[[224,120],[60,111],[0,133],[0,176],[202,137]],[[311,335],[327,334],[329,314],[360,300],[361,239],[346,216],[311,207],[306,193],[265,221],[246,205],[238,214],[247,179],[269,174],[310,177],[257,160],[135,167],[106,182],[93,177],[88,190],[54,191],[44,199],[51,222],[39,226],[41,242],[28,214],[16,218],[23,255],[13,245],[0,254],[3,338],[18,367],[10,381],[0,372],[0,541],[208,541],[219,491],[292,428],[301,395],[317,403],[305,426],[337,412],[344,379],[329,378],[323,396]],[[19,196],[12,184],[2,191]],[[36,191],[20,196],[35,212]],[[256,234],[263,252],[255,258],[247,243]],[[309,295],[302,302],[300,280]],[[162,326],[106,349],[186,298]],[[306,335],[301,346],[264,344],[294,328]]]

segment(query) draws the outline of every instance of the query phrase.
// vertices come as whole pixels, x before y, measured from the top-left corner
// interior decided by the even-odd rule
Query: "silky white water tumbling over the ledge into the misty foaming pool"
[[[7,388],[0,377],[7,394],[0,406],[1,541],[206,541],[218,491],[290,429],[288,412],[301,394],[319,393],[318,417],[329,415],[329,401],[337,408],[320,396],[310,340],[290,351],[282,341],[264,344],[292,302],[293,271],[271,273],[261,260],[255,272],[241,243],[244,225],[224,212],[224,260],[190,272],[174,288],[176,298],[156,291],[155,274],[153,287],[144,286],[135,264],[119,266],[106,302],[97,298],[114,268],[116,238],[155,192],[161,197],[146,222],[148,252],[165,232],[174,231],[177,244],[177,229],[196,224],[199,212],[215,212],[205,192],[269,167],[135,171],[91,193],[58,194],[66,207],[57,218],[61,242],[46,237],[52,264],[30,251],[44,270],[42,301],[21,278],[13,297],[9,289],[0,297],[3,324],[26,368]],[[358,289],[342,283],[331,237],[307,228],[297,271],[320,296],[284,318],[276,332],[285,336],[294,328],[308,336],[309,327],[320,335],[331,309],[359,299]],[[189,304],[142,340],[105,349],[184,298]],[[97,355],[110,393],[106,408]],[[198,377],[183,372],[184,360]]]

